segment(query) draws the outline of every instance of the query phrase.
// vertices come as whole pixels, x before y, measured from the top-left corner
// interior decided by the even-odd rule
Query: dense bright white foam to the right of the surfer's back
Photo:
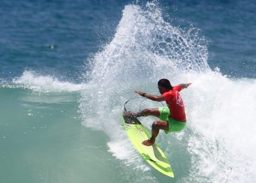
[[[254,79],[229,79],[218,72],[186,75],[188,141],[193,181],[251,180],[256,168]],[[248,98],[248,96],[250,96]],[[196,176],[195,176],[196,174]]]

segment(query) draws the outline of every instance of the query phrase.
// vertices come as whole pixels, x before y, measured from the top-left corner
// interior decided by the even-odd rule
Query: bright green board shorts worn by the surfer
[[[160,120],[162,121],[167,121],[168,124],[169,124],[169,130],[164,130],[164,132],[167,134],[167,133],[170,133],[170,132],[179,132],[181,130],[183,130],[186,126],[186,122],[179,122],[179,121],[176,121],[174,119],[171,118],[170,116],[170,109],[167,108],[167,107],[159,107],[159,112],[160,112]]]

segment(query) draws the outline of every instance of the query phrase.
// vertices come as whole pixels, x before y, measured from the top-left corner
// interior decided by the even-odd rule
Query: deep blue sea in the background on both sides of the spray
[[[109,43],[124,6],[130,3],[134,2],[4,0],[0,5],[0,78],[11,79],[32,69],[77,81],[81,66]],[[231,77],[256,77],[254,1],[158,3],[174,26],[193,24],[200,29],[200,36],[208,41],[211,68],[219,67]]]

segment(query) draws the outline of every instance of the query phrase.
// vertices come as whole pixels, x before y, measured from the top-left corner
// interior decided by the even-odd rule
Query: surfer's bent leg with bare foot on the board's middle
[[[152,132],[151,132],[151,138],[147,139],[142,142],[145,146],[152,146],[157,138],[157,135],[159,134],[159,130],[169,130],[169,124],[166,121],[155,121],[152,124]]]

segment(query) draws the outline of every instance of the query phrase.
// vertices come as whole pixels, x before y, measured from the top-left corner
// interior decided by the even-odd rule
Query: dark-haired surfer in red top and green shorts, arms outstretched
[[[165,101],[167,107],[146,108],[137,113],[126,112],[124,114],[125,116],[136,118],[152,115],[160,119],[152,123],[151,138],[142,142],[145,146],[152,146],[155,143],[160,129],[164,130],[166,134],[169,132],[179,132],[184,129],[187,122],[184,104],[179,91],[188,88],[191,83],[172,86],[169,80],[160,79],[157,85],[161,94],[159,96],[150,95],[141,91],[134,92],[153,101]]]

